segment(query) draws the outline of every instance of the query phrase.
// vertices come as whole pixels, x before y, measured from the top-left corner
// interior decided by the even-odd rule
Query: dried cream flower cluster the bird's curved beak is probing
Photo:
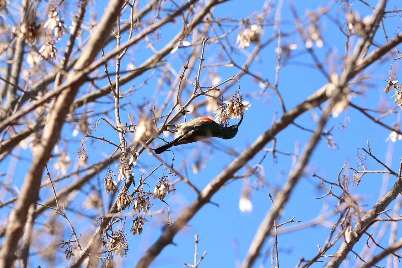
[[[243,101],[242,94],[237,90],[230,98],[230,101],[220,100],[219,108],[214,111],[216,113],[215,120],[222,126],[228,126],[229,119],[238,119],[243,116],[244,111],[251,106],[249,101]]]

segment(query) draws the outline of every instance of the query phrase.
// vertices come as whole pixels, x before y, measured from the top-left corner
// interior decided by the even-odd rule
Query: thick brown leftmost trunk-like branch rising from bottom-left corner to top
[[[15,260],[15,251],[23,227],[27,221],[28,209],[31,204],[37,202],[39,197],[43,168],[51,157],[53,146],[59,138],[64,119],[70,111],[71,103],[86,78],[86,74],[81,70],[86,68],[96,58],[104,40],[109,35],[111,27],[115,23],[117,15],[120,13],[123,3],[124,0],[112,0],[109,3],[107,11],[91,35],[88,46],[74,65],[74,70],[67,76],[68,86],[61,86],[63,90],[54,100],[53,109],[49,113],[41,138],[41,144],[34,154],[31,167],[21,188],[21,193],[18,195],[14,209],[10,213],[10,222],[6,227],[0,251],[0,267],[11,267]]]

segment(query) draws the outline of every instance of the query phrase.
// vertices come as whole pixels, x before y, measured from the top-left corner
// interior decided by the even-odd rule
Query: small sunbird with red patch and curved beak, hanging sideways
[[[243,115],[240,121],[233,126],[224,127],[213,121],[211,118],[205,116],[193,118],[182,124],[177,124],[176,128],[180,129],[180,134],[177,138],[165,145],[155,149],[155,154],[159,155],[168,150],[172,146],[179,144],[187,144],[196,142],[206,138],[222,138],[228,140],[236,136],[239,126],[242,123]]]

